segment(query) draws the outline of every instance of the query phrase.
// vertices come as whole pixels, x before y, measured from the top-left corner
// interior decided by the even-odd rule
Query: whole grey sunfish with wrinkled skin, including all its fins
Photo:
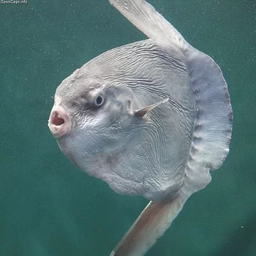
[[[229,151],[218,65],[144,0],[110,0],[148,40],[108,50],[58,86],[48,126],[63,154],[117,193],[150,203],[112,256],[144,255]]]

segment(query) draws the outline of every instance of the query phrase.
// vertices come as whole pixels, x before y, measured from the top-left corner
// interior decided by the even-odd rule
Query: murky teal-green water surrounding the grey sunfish
[[[230,154],[147,254],[256,255],[256,1],[150,1],[220,65]],[[107,0],[0,4],[0,256],[109,255],[146,206],[83,174],[47,121],[55,88],[105,50],[145,36]]]

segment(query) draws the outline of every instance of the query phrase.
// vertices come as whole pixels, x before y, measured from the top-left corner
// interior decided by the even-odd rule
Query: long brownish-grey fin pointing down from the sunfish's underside
[[[144,255],[169,228],[186,199],[185,196],[178,196],[172,201],[150,201],[110,256]]]

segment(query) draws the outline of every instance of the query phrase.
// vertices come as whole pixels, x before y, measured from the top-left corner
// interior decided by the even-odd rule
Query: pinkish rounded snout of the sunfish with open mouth
[[[71,131],[71,119],[62,107],[53,107],[48,120],[48,127],[55,138],[63,137]]]

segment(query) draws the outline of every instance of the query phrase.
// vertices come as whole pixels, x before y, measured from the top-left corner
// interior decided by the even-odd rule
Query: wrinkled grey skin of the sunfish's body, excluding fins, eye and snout
[[[55,93],[55,107],[72,119],[71,131],[58,138],[60,149],[117,193],[158,201],[182,186],[195,107],[184,55],[172,51],[151,40],[110,50]],[[99,95],[104,102],[97,106]],[[144,117],[133,114],[166,97]]]

